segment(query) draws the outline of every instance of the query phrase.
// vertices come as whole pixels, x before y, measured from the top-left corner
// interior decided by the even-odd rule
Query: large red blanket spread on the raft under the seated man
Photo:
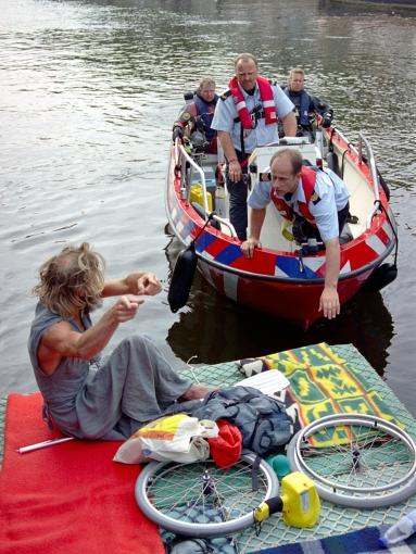
[[[11,394],[0,474],[3,554],[163,554],[157,527],[139,511],[138,466],[112,461],[121,442],[73,440],[18,454],[59,436],[40,416],[41,396]]]

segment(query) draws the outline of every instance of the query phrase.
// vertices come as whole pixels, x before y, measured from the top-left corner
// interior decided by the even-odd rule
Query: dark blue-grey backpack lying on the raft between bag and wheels
[[[293,435],[285,405],[252,387],[229,387],[207,394],[191,411],[199,419],[227,419],[242,435],[242,446],[261,456],[279,452]]]

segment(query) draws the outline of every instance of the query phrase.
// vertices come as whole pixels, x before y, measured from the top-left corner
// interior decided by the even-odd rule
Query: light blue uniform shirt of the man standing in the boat
[[[294,105],[278,85],[273,85],[272,89],[277,116],[279,119],[282,119],[288,115],[288,113],[293,111]],[[263,106],[257,85],[255,86],[254,95],[248,95],[241,87],[240,90],[249,112],[251,112],[257,105],[261,108]],[[236,117],[238,117],[238,112],[232,100],[232,95],[229,95],[229,97],[227,97],[225,100],[219,98],[215,108],[214,118],[211,127],[216,130],[225,130],[229,133],[232,139],[234,148],[241,151],[241,124],[240,122],[235,123],[234,119]],[[266,119],[264,117],[257,121],[257,125],[254,129],[244,129],[243,136],[245,153],[253,152],[256,147],[264,147],[270,142],[279,141],[277,124],[266,125]]]

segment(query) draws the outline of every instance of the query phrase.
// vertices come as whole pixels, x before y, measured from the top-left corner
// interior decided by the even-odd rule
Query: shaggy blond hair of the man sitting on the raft
[[[101,302],[104,267],[104,259],[88,242],[65,247],[40,266],[33,293],[49,311],[71,318]]]

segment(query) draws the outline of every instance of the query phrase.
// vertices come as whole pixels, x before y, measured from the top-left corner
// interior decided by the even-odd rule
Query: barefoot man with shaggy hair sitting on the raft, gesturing
[[[146,336],[124,339],[100,357],[117,327],[136,316],[141,295],[162,290],[153,273],[105,281],[103,269],[86,242],[41,265],[28,350],[50,425],[78,439],[124,440],[178,399],[212,389],[180,377]],[[119,299],[92,325],[90,312],[105,297]]]

